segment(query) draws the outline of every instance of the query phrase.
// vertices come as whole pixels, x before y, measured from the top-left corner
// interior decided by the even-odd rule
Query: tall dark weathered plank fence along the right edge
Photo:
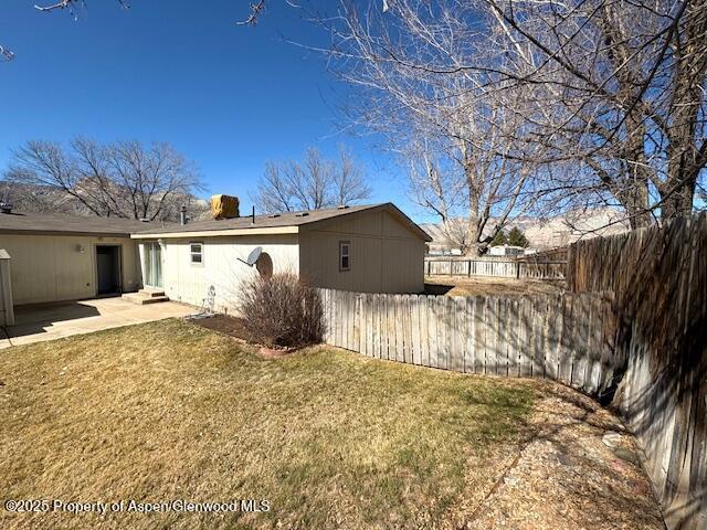
[[[613,293],[614,405],[643,447],[668,528],[707,529],[707,216],[572,245],[568,286]]]

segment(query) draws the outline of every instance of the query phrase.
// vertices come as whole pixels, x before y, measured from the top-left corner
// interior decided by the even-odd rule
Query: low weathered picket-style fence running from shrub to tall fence
[[[319,289],[326,342],[376,359],[549,378],[599,395],[611,384],[613,319],[601,296],[445,297]]]

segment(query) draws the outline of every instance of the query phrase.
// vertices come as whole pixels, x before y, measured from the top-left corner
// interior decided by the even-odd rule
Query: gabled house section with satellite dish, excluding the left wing
[[[421,293],[430,241],[391,203],[144,227],[131,239],[139,242],[147,287],[193,305],[213,288],[218,310],[235,306],[244,278],[272,272],[316,287]],[[257,257],[252,264],[251,255]]]

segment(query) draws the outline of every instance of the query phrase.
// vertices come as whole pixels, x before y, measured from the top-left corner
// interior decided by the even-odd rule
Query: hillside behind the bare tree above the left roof
[[[0,181],[0,200],[13,204],[15,210],[27,212],[60,212],[72,215],[95,215],[78,199],[60,188],[51,186],[31,186]],[[204,219],[209,215],[209,203],[194,195],[179,195],[170,201],[160,221],[179,221],[179,206],[187,205],[191,219]]]

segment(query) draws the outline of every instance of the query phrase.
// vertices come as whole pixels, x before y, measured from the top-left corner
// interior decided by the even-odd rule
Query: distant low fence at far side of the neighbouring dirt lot
[[[567,262],[425,258],[426,276],[496,276],[500,278],[563,279]]]

